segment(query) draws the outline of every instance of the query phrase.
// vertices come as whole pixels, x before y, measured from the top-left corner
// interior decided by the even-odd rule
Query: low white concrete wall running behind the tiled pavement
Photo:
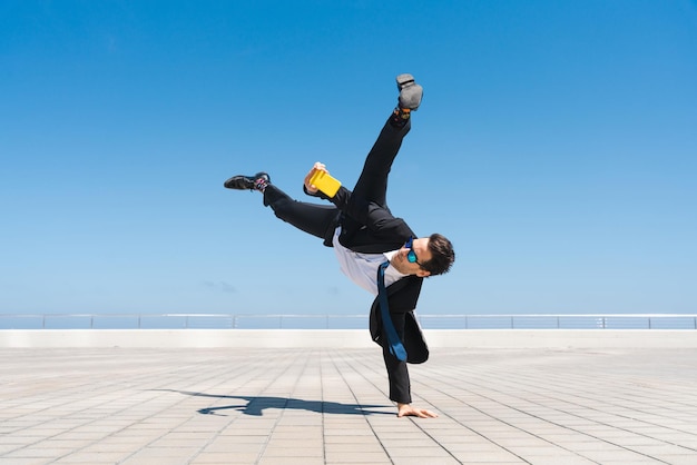
[[[697,330],[429,329],[431,348],[693,347]],[[374,347],[367,329],[2,329],[2,347]]]

